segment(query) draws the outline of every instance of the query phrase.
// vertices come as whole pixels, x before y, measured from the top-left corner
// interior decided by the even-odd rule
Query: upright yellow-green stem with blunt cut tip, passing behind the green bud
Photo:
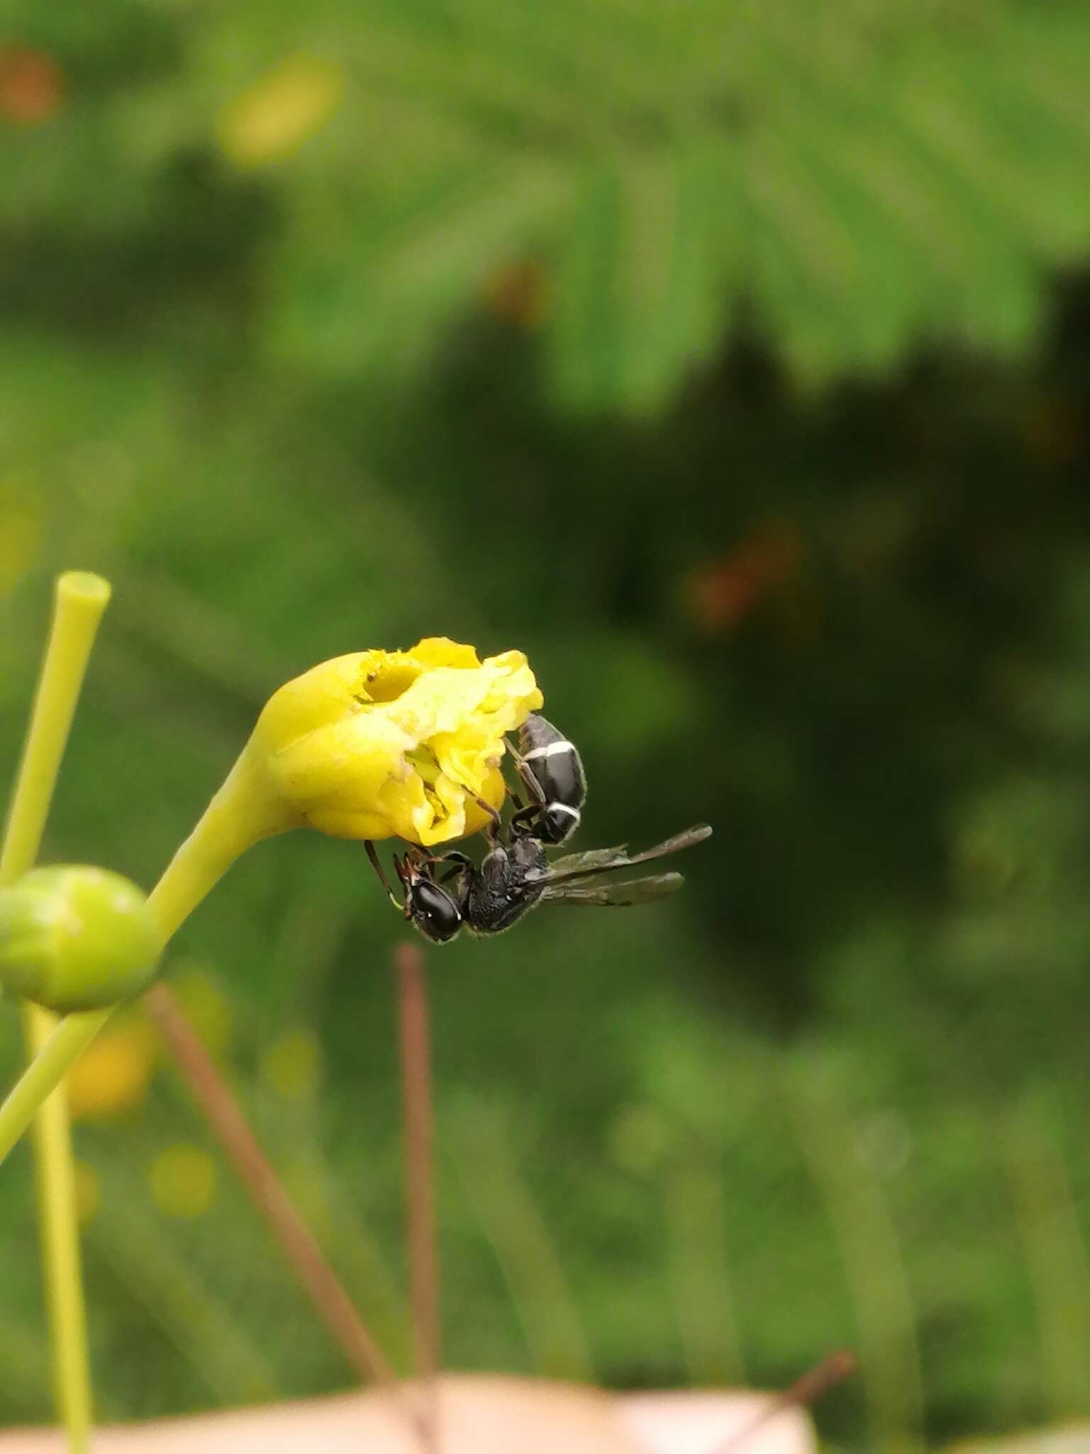
[[[65,571],[57,579],[49,643],[0,845],[0,887],[28,872],[38,856],[76,702],[109,598],[109,583],[100,576]],[[49,1011],[25,1005],[23,1032],[31,1056],[36,1057],[49,1041],[55,1024]],[[44,1102],[38,1098],[31,1111],[38,1111],[38,1218],[57,1407],[71,1454],[83,1454],[92,1429],[92,1380],[68,1105],[58,1080],[52,1080],[54,1093]]]

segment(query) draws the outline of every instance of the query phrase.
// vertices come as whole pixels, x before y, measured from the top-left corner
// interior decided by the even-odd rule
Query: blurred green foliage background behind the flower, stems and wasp
[[[430,957],[452,1367],[1090,1415],[1089,67],[1074,0],[0,10],[6,776],[52,573],[116,592],[47,858],[153,883],[276,685],[421,634],[529,653],[581,846],[715,824]],[[400,933],[294,835],[170,971],[404,1365]],[[103,1412],[343,1386],[138,1015],[73,1095]]]

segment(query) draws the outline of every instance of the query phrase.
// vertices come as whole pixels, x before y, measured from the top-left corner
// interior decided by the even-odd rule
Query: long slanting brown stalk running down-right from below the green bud
[[[144,1005],[215,1138],[310,1296],[318,1317],[365,1383],[374,1381],[397,1389],[394,1370],[295,1210],[269,1157],[250,1130],[238,1101],[212,1064],[173,990],[160,981],[148,990]]]

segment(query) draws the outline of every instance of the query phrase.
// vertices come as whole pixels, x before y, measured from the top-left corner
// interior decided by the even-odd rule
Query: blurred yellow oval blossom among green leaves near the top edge
[[[340,105],[340,67],[292,55],[241,90],[219,116],[219,145],[237,167],[260,167],[294,156]]]

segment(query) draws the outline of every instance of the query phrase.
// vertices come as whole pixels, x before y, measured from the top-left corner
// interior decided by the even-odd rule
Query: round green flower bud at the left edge
[[[35,868],[0,888],[0,986],[47,1009],[116,1005],[151,981],[158,954],[147,899],[121,874]]]

